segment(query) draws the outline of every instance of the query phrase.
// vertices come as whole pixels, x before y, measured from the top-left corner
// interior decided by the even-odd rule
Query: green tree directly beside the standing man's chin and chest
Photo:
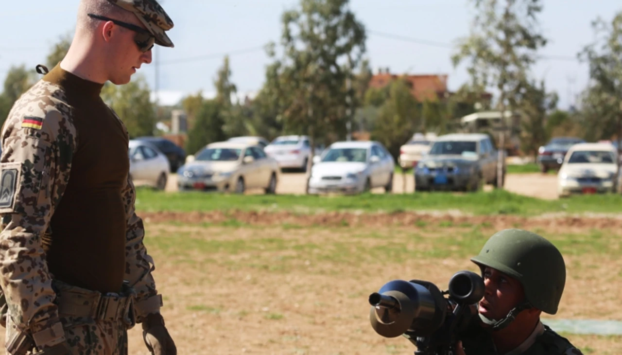
[[[154,134],[156,111],[151,102],[151,90],[142,75],[126,85],[106,83],[101,97],[119,115],[128,128],[130,138]]]

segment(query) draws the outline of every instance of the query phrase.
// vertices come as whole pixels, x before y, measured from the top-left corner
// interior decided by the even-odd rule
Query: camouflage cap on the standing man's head
[[[156,37],[156,44],[175,47],[165,31],[173,28],[173,21],[156,0],[108,0],[115,5],[134,12],[149,32]]]

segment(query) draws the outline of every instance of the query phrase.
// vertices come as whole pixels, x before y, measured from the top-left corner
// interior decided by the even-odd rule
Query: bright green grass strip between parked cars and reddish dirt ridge
[[[211,194],[203,192],[160,192],[139,189],[136,208],[140,211],[447,211],[469,214],[540,215],[550,212],[622,212],[622,195],[573,196],[546,201],[508,191],[452,193],[417,192],[416,194],[360,194],[356,196],[294,196]],[[229,220],[225,224],[239,226]]]

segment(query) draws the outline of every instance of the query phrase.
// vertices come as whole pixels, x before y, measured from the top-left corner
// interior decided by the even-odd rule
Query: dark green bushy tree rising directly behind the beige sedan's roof
[[[186,151],[194,154],[207,144],[225,140],[223,123],[220,103],[205,100],[197,111],[195,125],[188,132]]]

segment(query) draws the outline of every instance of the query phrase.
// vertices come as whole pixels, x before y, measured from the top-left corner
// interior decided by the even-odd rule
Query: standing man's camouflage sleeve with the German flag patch
[[[0,285],[7,324],[35,341],[60,324],[41,238],[67,187],[76,139],[69,113],[42,103],[12,111],[2,129]]]

